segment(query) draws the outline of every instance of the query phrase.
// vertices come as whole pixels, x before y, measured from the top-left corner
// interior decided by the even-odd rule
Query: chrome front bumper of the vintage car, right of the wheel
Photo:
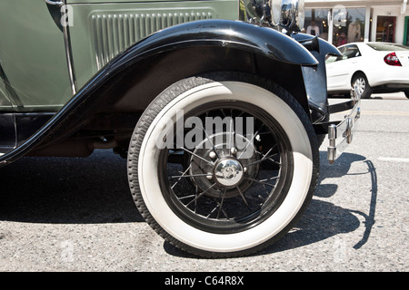
[[[328,160],[331,164],[352,142],[354,131],[361,117],[361,99],[357,96],[352,96],[352,101],[354,102],[354,107],[344,117],[344,120],[337,125],[332,124],[328,126]]]

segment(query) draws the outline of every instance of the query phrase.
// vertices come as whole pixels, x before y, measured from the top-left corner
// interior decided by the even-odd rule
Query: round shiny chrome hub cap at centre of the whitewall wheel
[[[235,187],[243,178],[244,169],[239,160],[225,158],[214,167],[214,179],[224,187]]]

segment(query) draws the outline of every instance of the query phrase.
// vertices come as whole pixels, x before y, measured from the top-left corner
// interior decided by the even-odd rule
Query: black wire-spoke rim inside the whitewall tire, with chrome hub
[[[292,180],[291,145],[282,127],[247,102],[206,104],[185,115],[191,116],[230,117],[233,126],[212,132],[202,128],[204,140],[193,148],[161,150],[158,176],[169,208],[190,226],[219,234],[240,232],[269,218]],[[252,118],[253,128],[234,131],[237,117]]]

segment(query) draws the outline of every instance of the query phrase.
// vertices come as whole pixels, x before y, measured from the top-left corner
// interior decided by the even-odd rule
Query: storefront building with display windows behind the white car
[[[305,0],[304,31],[335,46],[353,42],[409,45],[408,0]]]

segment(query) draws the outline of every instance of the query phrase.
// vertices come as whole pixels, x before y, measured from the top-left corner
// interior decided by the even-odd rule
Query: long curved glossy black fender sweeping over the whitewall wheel
[[[175,65],[175,60],[181,65]],[[234,64],[237,62],[232,60],[243,62]],[[224,67],[227,64],[229,67]],[[284,88],[293,90],[291,93],[308,111],[301,68],[317,64],[302,44],[271,28],[228,20],[179,24],[119,53],[40,130],[1,156],[0,166],[30,150],[64,140],[89,126],[102,112],[143,111],[156,92],[192,73],[234,69],[277,78]]]

